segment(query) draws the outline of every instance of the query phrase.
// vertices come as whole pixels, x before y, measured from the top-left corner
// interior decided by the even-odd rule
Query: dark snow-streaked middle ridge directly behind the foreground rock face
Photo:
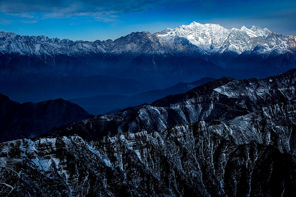
[[[223,77],[184,94],[164,97],[150,105],[143,104],[119,113],[71,123],[50,135],[78,134],[83,139],[93,140],[117,133],[159,131],[197,121],[227,121],[269,105],[287,102],[295,96],[295,71],[263,79]]]

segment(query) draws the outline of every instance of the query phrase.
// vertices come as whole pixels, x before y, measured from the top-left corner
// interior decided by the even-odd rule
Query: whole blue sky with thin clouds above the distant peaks
[[[188,25],[243,25],[296,35],[296,1],[0,1],[0,30],[71,40],[116,39],[136,31],[151,33]]]

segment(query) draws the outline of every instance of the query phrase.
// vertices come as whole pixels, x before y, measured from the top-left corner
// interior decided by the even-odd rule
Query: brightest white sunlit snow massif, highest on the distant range
[[[267,28],[252,26],[248,29],[242,26],[240,29],[226,29],[218,24],[201,24],[193,21],[189,25],[181,25],[174,29],[167,28],[164,31],[157,33],[160,39],[172,40],[175,37],[186,38],[190,43],[201,48],[205,53],[224,53],[232,51],[240,54],[246,50],[252,51],[258,44],[266,41],[266,37],[272,32]],[[258,38],[260,37],[260,38]],[[289,39],[289,38],[287,38]],[[259,41],[260,40],[260,41]],[[268,41],[270,42],[270,41]],[[288,48],[283,43],[276,42],[264,43],[272,48],[278,48],[281,45],[283,51]]]

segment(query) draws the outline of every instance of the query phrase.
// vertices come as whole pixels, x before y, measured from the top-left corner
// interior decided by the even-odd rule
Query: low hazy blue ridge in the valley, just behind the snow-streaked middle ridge
[[[151,103],[157,99],[168,95],[175,95],[187,92],[206,82],[215,80],[214,78],[202,78],[191,83],[178,83],[166,89],[156,89],[142,92],[133,96],[124,95],[96,95],[92,97],[69,99],[69,101],[81,106],[90,114],[105,114],[112,110],[121,111],[123,108],[137,106],[142,103]],[[121,110],[120,110],[121,109]]]

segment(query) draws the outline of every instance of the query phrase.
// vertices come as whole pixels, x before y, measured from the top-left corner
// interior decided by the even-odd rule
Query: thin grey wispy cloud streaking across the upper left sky
[[[183,2],[184,0],[174,1]],[[16,0],[1,1],[0,10],[6,14],[33,18],[32,13],[42,13],[43,18],[65,18],[90,16],[98,21],[114,21],[117,14],[139,12],[162,4],[172,3],[168,0],[132,0],[132,1],[37,1]]]

